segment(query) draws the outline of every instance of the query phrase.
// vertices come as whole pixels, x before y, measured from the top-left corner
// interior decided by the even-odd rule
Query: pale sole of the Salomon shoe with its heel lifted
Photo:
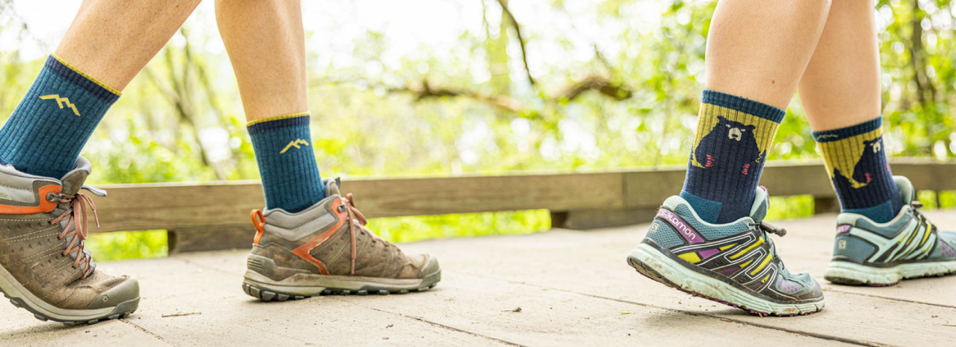
[[[724,300],[751,310],[775,315],[795,315],[816,312],[823,308],[823,298],[815,302],[782,304],[751,296],[749,293],[722,280],[687,269],[684,265],[679,264],[667,255],[663,255],[656,248],[646,243],[641,243],[638,248],[631,251],[630,256],[650,266],[658,274],[684,290]]]

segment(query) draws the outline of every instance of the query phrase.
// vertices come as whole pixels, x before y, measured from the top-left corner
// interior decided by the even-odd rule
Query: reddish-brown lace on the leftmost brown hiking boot
[[[92,265],[92,258],[90,254],[86,252],[86,236],[87,236],[87,218],[86,218],[86,205],[90,205],[90,210],[93,211],[93,217],[99,226],[99,217],[97,215],[97,205],[93,203],[93,199],[86,194],[56,194],[54,198],[58,198],[58,202],[66,202],[70,205],[67,206],[67,210],[62,214],[50,221],[50,224],[56,224],[62,221],[66,221],[66,225],[63,227],[63,231],[57,236],[59,239],[73,236],[70,239],[70,243],[67,244],[66,250],[63,251],[62,255],[70,255],[76,252],[76,258],[73,261],[74,269],[83,269],[83,276],[80,278],[86,278],[87,276],[93,275],[93,272],[96,270]]]

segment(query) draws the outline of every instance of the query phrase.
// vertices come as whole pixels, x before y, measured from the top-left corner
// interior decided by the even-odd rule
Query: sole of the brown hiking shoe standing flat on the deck
[[[425,276],[427,278],[428,276]],[[314,274],[295,274],[282,280],[273,280],[252,270],[246,271],[246,282],[274,291],[315,296],[326,288],[358,291],[363,287],[382,287],[395,290],[419,289],[425,278],[380,278],[363,276],[326,276]]]

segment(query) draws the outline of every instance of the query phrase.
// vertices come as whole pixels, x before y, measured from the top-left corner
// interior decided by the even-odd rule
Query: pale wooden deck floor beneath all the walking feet
[[[927,212],[956,227],[956,212]],[[781,221],[793,272],[824,283],[812,316],[759,317],[638,275],[625,255],[646,225],[591,232],[442,239],[403,245],[437,255],[444,279],[402,296],[264,303],[240,289],[245,250],[100,264],[137,276],[140,311],[65,327],[0,304],[0,345],[900,345],[956,341],[956,276],[888,288],[826,283],[835,214]],[[775,237],[775,236],[774,236]]]

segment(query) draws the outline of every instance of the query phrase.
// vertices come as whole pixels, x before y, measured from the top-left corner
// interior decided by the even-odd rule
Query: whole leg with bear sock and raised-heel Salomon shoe
[[[823,307],[823,294],[811,276],[776,270],[783,263],[774,246],[765,242],[767,233],[775,232],[763,223],[767,192],[757,187],[773,136],[829,10],[829,0],[717,3],[707,36],[706,90],[684,189],[664,201],[647,236],[628,256],[639,273],[760,315],[810,314]],[[695,232],[688,226],[695,223],[711,224],[709,230]],[[719,243],[728,239],[739,241]],[[688,244],[714,248],[688,252],[695,247]],[[728,256],[762,260],[753,262],[756,270],[744,269],[750,260],[729,267],[710,261]],[[724,275],[711,275],[714,271]],[[713,290],[716,283],[727,289]],[[783,283],[787,296],[776,298],[782,297],[776,291]]]

